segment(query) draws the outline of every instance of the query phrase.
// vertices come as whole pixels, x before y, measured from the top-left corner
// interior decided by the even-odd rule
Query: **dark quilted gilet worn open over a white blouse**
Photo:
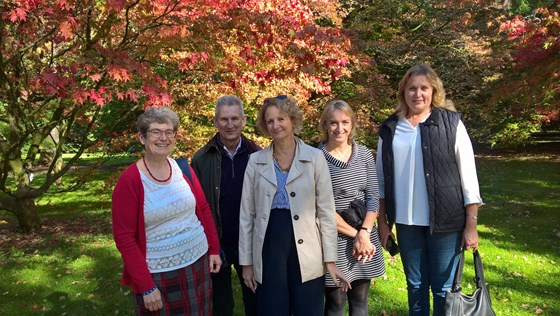
[[[459,113],[434,108],[430,117],[420,124],[431,231],[457,231],[465,226],[461,176],[454,149],[460,120]],[[397,121],[396,116],[391,116],[379,130],[383,139],[385,205],[391,224],[395,221],[392,140]]]

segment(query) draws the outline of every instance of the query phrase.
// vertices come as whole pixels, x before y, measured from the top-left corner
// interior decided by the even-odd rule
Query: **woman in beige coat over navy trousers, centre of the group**
[[[327,163],[295,133],[302,114],[286,96],[265,99],[257,125],[272,138],[249,158],[243,182],[239,264],[259,315],[323,315],[324,274],[335,265],[337,230]]]

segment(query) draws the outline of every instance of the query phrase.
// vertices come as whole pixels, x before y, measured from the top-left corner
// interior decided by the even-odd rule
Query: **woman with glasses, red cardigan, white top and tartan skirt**
[[[195,173],[184,176],[169,157],[179,118],[167,107],[148,108],[136,126],[145,154],[112,195],[121,283],[132,288],[137,315],[211,315],[210,273],[220,270],[220,247]]]

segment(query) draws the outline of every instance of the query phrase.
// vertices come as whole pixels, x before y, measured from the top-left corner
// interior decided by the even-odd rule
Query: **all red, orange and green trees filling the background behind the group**
[[[0,12],[0,209],[28,231],[36,198],[83,183],[61,181],[83,153],[138,150],[146,106],[179,112],[177,154],[191,156],[220,95],[244,100],[262,145],[263,98],[295,96],[312,144],[339,98],[375,148],[401,76],[429,63],[476,143],[528,145],[559,128],[560,0],[8,0]]]

